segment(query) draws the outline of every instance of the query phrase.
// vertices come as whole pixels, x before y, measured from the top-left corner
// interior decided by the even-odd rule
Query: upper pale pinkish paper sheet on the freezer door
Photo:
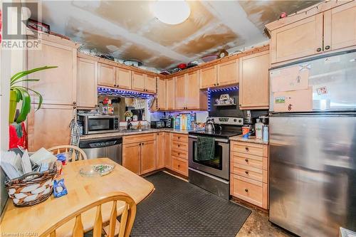
[[[310,64],[300,64],[293,67],[271,71],[272,93],[290,90],[307,90]]]

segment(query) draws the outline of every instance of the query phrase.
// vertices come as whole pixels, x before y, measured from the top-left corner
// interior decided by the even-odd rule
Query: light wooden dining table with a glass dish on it
[[[83,177],[80,168],[92,164],[115,164],[114,170],[105,176]],[[41,204],[16,207],[11,199],[1,215],[0,236],[40,236],[47,228],[111,192],[122,191],[130,195],[136,204],[154,191],[152,183],[130,172],[108,158],[86,159],[63,166],[63,173],[57,179],[64,179],[68,194],[55,198],[51,195]],[[103,204],[103,222],[108,222],[112,203]],[[117,203],[117,214],[122,213],[123,203]],[[95,209],[82,215],[85,231],[93,229]],[[56,236],[71,236],[74,220],[58,228]],[[16,235],[17,234],[17,235]]]

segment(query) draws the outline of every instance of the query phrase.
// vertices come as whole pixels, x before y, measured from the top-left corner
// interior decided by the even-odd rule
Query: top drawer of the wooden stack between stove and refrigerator
[[[251,142],[231,142],[231,151],[268,157],[268,145]]]

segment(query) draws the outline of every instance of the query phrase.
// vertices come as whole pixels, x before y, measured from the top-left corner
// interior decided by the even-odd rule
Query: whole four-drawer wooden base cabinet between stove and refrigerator
[[[268,209],[268,145],[231,142],[230,194]]]

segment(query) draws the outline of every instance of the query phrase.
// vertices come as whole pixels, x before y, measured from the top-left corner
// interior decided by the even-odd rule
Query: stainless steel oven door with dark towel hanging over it
[[[197,136],[189,135],[189,167],[229,180],[229,139],[215,138],[215,159],[197,159]]]

